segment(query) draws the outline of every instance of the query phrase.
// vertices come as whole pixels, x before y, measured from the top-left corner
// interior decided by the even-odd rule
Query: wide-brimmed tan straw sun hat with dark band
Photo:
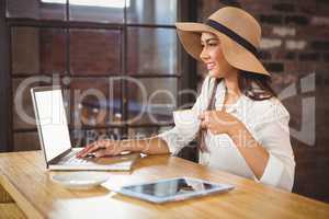
[[[201,33],[209,32],[218,36],[227,62],[232,67],[254,73],[270,76],[258,58],[261,27],[246,11],[225,7],[213,13],[203,23],[175,23],[178,35],[185,50],[201,60]]]

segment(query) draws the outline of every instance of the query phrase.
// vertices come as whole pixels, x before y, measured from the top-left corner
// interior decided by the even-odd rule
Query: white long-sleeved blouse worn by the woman
[[[206,110],[214,88],[214,78],[207,77],[202,85],[192,111],[200,115]],[[225,81],[218,84],[215,93],[215,107],[223,108],[225,97]],[[236,116],[245,124],[253,138],[269,152],[269,161],[260,181],[248,166],[246,160],[237,149],[235,142],[226,134],[213,135],[207,131],[205,143],[208,152],[200,152],[198,162],[209,168],[253,178],[263,184],[273,185],[286,191],[292,191],[295,174],[295,160],[291,146],[288,120],[290,114],[282,103],[272,97],[264,101],[253,101],[246,95],[226,107],[226,112]],[[174,155],[198,132],[198,126],[184,135],[177,127],[160,134],[170,152]]]

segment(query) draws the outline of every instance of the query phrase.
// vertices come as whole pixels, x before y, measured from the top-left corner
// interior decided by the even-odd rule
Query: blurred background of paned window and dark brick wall
[[[193,104],[206,76],[179,44],[174,22],[203,22],[234,5],[260,22],[261,59],[291,113],[294,192],[329,201],[328,0],[0,2],[0,151],[39,149],[35,125],[21,116],[34,117],[30,88],[36,85],[64,88],[77,147],[102,136],[140,138],[171,128],[172,111]],[[193,151],[180,155],[195,161]]]

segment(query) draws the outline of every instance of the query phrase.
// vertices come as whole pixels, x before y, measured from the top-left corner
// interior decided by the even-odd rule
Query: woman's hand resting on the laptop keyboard
[[[102,139],[86,146],[86,148],[77,154],[77,158],[84,158],[90,153],[94,153],[97,158],[117,155],[125,150],[126,148],[122,141]]]

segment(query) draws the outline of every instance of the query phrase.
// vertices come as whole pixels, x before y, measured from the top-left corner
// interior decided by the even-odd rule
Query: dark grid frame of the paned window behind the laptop
[[[186,5],[191,5],[192,3],[188,3],[188,0],[178,0],[178,5],[177,5],[177,18],[178,20],[183,20],[183,18],[189,18],[189,11],[190,8]],[[5,10],[7,8],[4,7],[4,16],[5,16]],[[69,3],[68,1],[66,2],[66,20],[59,21],[59,20],[33,20],[33,19],[23,19],[23,18],[5,18],[5,23],[7,23],[7,30],[8,30],[8,35],[10,36],[8,42],[9,42],[9,47],[7,48],[9,50],[9,84],[10,87],[12,85],[12,82],[14,79],[22,79],[22,78],[29,78],[31,76],[26,76],[26,74],[13,74],[12,73],[12,42],[11,42],[11,30],[14,27],[36,27],[36,28],[43,28],[43,27],[48,27],[48,28],[63,28],[65,30],[65,34],[66,34],[66,74],[60,76],[61,77],[71,77],[71,78],[83,78],[83,77],[88,77],[88,76],[73,76],[70,72],[70,36],[69,36],[69,31],[71,28],[81,28],[81,30],[120,30],[122,33],[122,57],[121,57],[121,62],[122,62],[122,69],[121,69],[121,73],[118,76],[129,76],[136,79],[139,78],[175,78],[178,80],[177,82],[177,91],[180,91],[181,89],[184,88],[191,88],[191,84],[189,84],[189,82],[191,81],[191,71],[193,73],[193,68],[189,68],[188,66],[190,66],[192,64],[193,67],[193,62],[191,62],[191,59],[188,58],[186,54],[182,53],[182,46],[179,44],[178,42],[178,56],[177,56],[177,62],[178,62],[178,72],[175,72],[175,74],[128,74],[127,72],[127,28],[128,27],[141,27],[141,28],[170,28],[170,30],[174,30],[175,26],[174,25],[167,25],[167,24],[147,24],[147,23],[127,23],[127,9],[124,8],[124,22],[123,23],[97,23],[97,22],[78,22],[78,21],[69,21]],[[189,61],[190,60],[190,61]],[[181,65],[182,64],[182,65]],[[186,69],[186,70],[185,70]],[[196,72],[196,69],[194,69],[194,72]],[[195,73],[194,73],[195,74]],[[38,73],[38,74],[33,74],[33,76],[45,76],[43,73]],[[190,76],[190,77],[188,77]],[[102,78],[104,76],[102,74],[97,74],[97,76],[89,76],[92,78]],[[110,76],[105,76],[105,77],[117,77],[116,74],[110,74]],[[188,78],[188,80],[183,80],[184,78]],[[193,77],[192,77],[193,78]],[[188,82],[188,83],[186,83]],[[192,85],[192,88],[194,88],[194,85]],[[11,88],[9,89],[11,91]],[[125,84],[125,82],[123,82],[121,84],[121,91],[122,91],[122,116],[123,116],[123,120],[127,120],[128,119],[128,102],[129,100],[127,99],[128,95],[128,87]],[[8,123],[10,126],[10,136],[11,139],[8,141],[9,142],[9,148],[5,149],[7,151],[13,151],[13,134],[15,132],[29,132],[29,131],[36,131],[36,128],[31,128],[31,129],[15,129],[13,128],[13,124],[12,124],[12,119],[13,119],[13,113],[12,113],[12,108],[13,108],[13,93],[9,94],[9,103],[10,103],[10,110],[11,110],[11,115],[10,115],[10,122]],[[184,102],[189,102],[191,101],[190,99],[186,97],[181,97],[181,96],[177,96],[177,103],[178,106],[180,106],[181,104],[184,104]],[[72,111],[72,108],[70,108],[70,112]],[[72,119],[71,117],[71,113],[70,113],[70,119]],[[71,123],[70,123],[71,124]],[[83,130],[88,130],[88,129],[107,129],[107,128],[121,128],[122,130],[122,136],[125,137],[128,135],[128,129],[129,128],[140,128],[140,127],[146,127],[146,128],[154,128],[154,127],[158,127],[158,129],[160,129],[161,127],[168,127],[168,126],[172,126],[172,123],[168,123],[168,124],[138,124],[138,125],[129,125],[129,124],[124,124],[124,125],[106,125],[106,126],[98,126],[98,127],[86,127],[83,128]],[[76,130],[75,127],[69,127],[70,131]],[[77,129],[79,130],[79,129]]]

